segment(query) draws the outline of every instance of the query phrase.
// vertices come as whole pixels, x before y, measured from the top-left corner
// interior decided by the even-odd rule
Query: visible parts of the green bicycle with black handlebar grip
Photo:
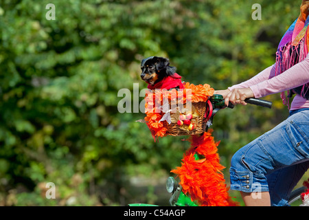
[[[245,102],[249,104],[255,104],[262,107],[271,108],[272,102],[267,100],[260,100],[255,98],[248,98]],[[207,111],[205,113],[205,120],[209,121],[207,123],[205,132],[209,129],[209,126],[212,124],[214,115],[218,113],[220,109],[230,108],[233,109],[234,105],[229,103],[229,106],[225,106],[225,100],[221,95],[215,94],[211,96],[207,101]],[[198,160],[198,155],[194,154],[196,160]],[[180,181],[174,179],[174,177],[168,177],[166,181],[166,190],[169,193],[172,193],[169,204],[170,206],[198,206],[196,201],[192,201],[190,195],[183,192],[183,187],[181,186]],[[297,188],[290,193],[290,197],[288,199],[288,204],[293,206],[295,203],[301,202],[301,194],[307,190],[305,186]],[[155,206],[146,203],[132,203],[129,206]]]

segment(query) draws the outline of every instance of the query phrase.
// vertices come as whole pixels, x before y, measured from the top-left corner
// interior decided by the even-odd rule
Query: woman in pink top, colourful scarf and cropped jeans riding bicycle
[[[225,104],[281,93],[290,116],[240,148],[231,159],[231,190],[246,206],[286,206],[291,190],[309,168],[309,0],[279,43],[276,62],[250,80],[215,91]],[[296,94],[293,102],[288,96]],[[255,192],[259,192],[256,194]]]

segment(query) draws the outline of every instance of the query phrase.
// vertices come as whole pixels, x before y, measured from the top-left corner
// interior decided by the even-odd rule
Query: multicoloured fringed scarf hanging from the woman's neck
[[[276,52],[276,76],[293,67],[293,65],[304,61],[308,54],[309,0],[303,0],[300,9],[299,17],[290,25],[290,28],[288,28],[279,43]],[[287,106],[289,106],[288,98],[293,93],[299,94],[309,100],[309,83],[291,89],[288,91],[287,96],[284,91],[281,93],[281,98]]]

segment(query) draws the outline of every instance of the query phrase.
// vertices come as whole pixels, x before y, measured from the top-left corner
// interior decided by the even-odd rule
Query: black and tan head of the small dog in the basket
[[[150,85],[160,82],[165,76],[172,76],[175,67],[170,67],[168,58],[150,56],[141,61],[141,79]]]

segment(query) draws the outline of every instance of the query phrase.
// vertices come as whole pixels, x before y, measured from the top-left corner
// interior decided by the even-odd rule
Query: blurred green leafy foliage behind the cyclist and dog
[[[56,20],[45,17],[48,3]],[[251,18],[253,3],[262,20]],[[119,113],[119,89],[146,88],[139,74],[148,56],[168,57],[183,80],[214,89],[247,80],[275,62],[300,4],[0,0],[0,206],[167,204],[165,178],[189,145],[184,136],[154,142],[135,122],[144,113]],[[215,117],[228,185],[233,153],[288,115],[279,94],[265,99],[273,109],[237,106]],[[47,182],[56,199],[45,197]]]

